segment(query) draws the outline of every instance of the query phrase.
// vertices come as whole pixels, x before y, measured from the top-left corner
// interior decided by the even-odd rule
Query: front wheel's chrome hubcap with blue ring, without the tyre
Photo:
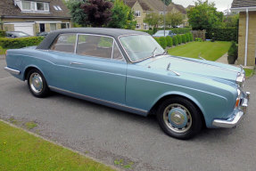
[[[185,133],[192,126],[192,117],[185,106],[173,103],[163,112],[166,126],[176,133]]]

